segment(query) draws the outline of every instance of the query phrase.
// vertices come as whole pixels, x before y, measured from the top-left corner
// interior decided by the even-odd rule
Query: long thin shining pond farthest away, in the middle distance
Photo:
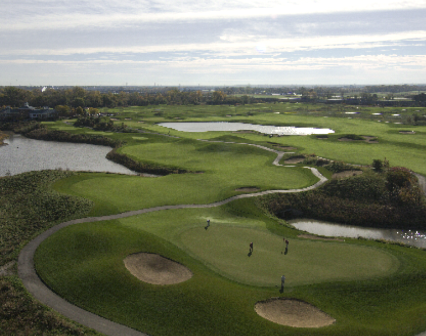
[[[334,133],[334,131],[329,128],[253,125],[239,122],[173,122],[160,123],[158,125],[182,132],[255,131],[263,134],[278,135],[311,135]]]

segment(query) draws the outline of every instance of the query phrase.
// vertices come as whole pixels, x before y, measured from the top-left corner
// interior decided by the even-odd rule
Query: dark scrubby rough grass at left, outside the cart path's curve
[[[90,202],[48,189],[70,174],[42,171],[0,178],[0,266],[12,265],[8,276],[0,276],[2,335],[98,335],[40,305],[16,275],[18,253],[28,240],[90,210]]]

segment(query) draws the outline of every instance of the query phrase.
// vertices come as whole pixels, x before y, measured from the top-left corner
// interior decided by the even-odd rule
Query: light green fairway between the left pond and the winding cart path
[[[160,204],[211,203],[239,194],[235,189],[245,186],[297,189],[318,181],[310,170],[273,166],[276,154],[247,145],[144,141],[121,152],[143,162],[202,173],[158,178],[80,174],[60,181],[56,190],[89,198],[96,203],[93,214],[107,214]]]

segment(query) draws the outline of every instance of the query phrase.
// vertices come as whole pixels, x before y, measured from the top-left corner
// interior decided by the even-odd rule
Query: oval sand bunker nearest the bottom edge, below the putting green
[[[309,303],[294,299],[258,302],[254,310],[269,321],[295,328],[320,328],[336,321]]]

